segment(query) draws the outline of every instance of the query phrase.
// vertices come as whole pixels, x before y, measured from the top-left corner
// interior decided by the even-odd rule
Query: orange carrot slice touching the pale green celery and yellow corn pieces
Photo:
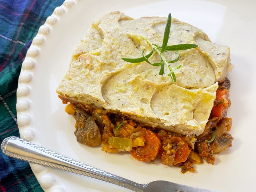
[[[161,147],[161,141],[156,133],[143,128],[142,135],[145,137],[146,145],[143,147],[132,148],[130,151],[132,157],[138,161],[150,162],[154,160]]]

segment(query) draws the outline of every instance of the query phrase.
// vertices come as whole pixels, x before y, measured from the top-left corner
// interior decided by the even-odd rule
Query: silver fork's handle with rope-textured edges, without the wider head
[[[5,155],[16,159],[52,168],[58,168],[64,171],[107,181],[136,192],[143,192],[144,185],[142,184],[102,171],[90,165],[80,163],[76,160],[40,147],[35,143],[20,139],[19,137],[5,138],[1,144],[1,149]]]

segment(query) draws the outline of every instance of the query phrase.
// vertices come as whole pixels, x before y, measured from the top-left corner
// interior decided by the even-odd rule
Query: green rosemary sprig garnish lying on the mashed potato
[[[168,44],[168,40],[169,40],[169,36],[170,36],[170,29],[171,29],[171,23],[172,23],[172,15],[171,13],[169,13],[168,18],[167,18],[167,22],[166,22],[166,26],[164,29],[164,37],[163,37],[163,43],[162,46],[158,46],[156,44],[152,44],[150,43],[145,37],[141,36],[145,41],[147,41],[148,44],[151,45],[152,50],[145,55],[145,49],[142,50],[141,54],[142,57],[140,58],[122,58],[124,61],[130,62],[130,63],[141,63],[143,61],[146,61],[148,64],[153,65],[153,66],[161,66],[160,71],[159,71],[159,75],[164,75],[164,66],[167,65],[170,73],[168,74],[168,76],[170,76],[172,78],[173,82],[176,82],[176,76],[174,74],[174,70],[177,70],[181,67],[181,65],[179,65],[176,68],[172,68],[170,64],[168,63],[174,63],[177,62],[180,59],[180,50],[186,50],[186,49],[192,49],[192,48],[196,48],[197,45],[196,44],[176,44],[176,45],[170,45],[167,46]],[[161,50],[161,51],[159,51]],[[177,57],[174,60],[167,60],[165,59],[163,53],[166,51],[174,51],[174,53],[177,55]],[[161,62],[160,63],[151,63],[148,59],[152,56],[152,54],[154,52],[157,52],[161,58]]]

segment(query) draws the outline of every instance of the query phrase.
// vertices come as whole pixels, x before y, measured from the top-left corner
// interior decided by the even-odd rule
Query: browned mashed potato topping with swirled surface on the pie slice
[[[180,51],[181,65],[173,83],[167,73],[146,62],[132,64],[122,57],[140,57],[141,50],[161,44],[166,18],[132,19],[112,12],[94,22],[73,53],[68,73],[57,93],[85,106],[95,105],[123,114],[147,126],[182,134],[203,133],[210,116],[216,83],[232,69],[229,47],[213,44],[200,29],[172,18],[168,45],[198,44]],[[166,52],[166,57],[175,57]],[[153,55],[151,60],[159,58]]]

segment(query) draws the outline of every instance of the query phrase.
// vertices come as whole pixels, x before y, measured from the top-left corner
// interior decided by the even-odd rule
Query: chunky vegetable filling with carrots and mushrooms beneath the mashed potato
[[[151,162],[160,158],[164,165],[177,166],[181,172],[195,172],[194,164],[214,164],[214,154],[232,146],[231,118],[226,117],[231,102],[230,81],[219,84],[212,113],[199,135],[182,135],[163,129],[144,126],[126,116],[105,109],[68,104],[66,112],[76,119],[75,135],[79,143],[101,145],[110,153],[130,152],[138,161]],[[65,101],[63,101],[65,102]]]

